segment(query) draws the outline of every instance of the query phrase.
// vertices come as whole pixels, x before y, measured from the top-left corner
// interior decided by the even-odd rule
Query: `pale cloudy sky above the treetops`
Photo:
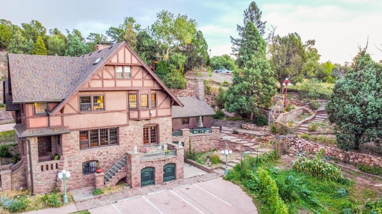
[[[197,21],[207,40],[211,55],[231,53],[230,35],[236,37],[236,24],[243,22],[243,10],[251,1],[229,0],[12,0],[2,1],[0,18],[14,24],[39,20],[47,29],[57,27],[105,34],[110,26],[118,26],[125,16],[133,16],[142,27],[151,25],[156,13],[168,10],[188,14]],[[320,61],[351,61],[358,45],[369,38],[369,53],[382,59],[381,0],[258,0],[262,19],[277,26],[276,33],[297,32],[301,38],[316,40]]]

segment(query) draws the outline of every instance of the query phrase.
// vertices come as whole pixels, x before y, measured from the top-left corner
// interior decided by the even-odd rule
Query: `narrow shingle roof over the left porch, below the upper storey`
[[[32,136],[36,137],[36,136],[47,136],[47,135],[54,135],[54,134],[70,133],[70,130],[67,126],[26,129],[22,123],[16,124],[15,130],[19,137],[32,137]]]

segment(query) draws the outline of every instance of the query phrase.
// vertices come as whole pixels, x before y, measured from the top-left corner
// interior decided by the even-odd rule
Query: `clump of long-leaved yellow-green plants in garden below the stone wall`
[[[324,149],[317,153],[316,158],[314,159],[310,159],[309,157],[298,157],[292,164],[293,168],[298,172],[304,172],[312,177],[343,182],[344,179],[341,170],[337,166],[322,160],[323,152]]]

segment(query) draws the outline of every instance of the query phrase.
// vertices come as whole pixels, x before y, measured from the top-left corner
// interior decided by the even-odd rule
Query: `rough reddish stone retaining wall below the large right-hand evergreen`
[[[322,145],[312,141],[295,137],[292,139],[291,150],[292,152],[314,152],[318,153],[321,149],[324,149],[324,156],[332,158],[338,158],[341,161],[348,161],[350,163],[363,163],[369,166],[382,167],[382,157],[369,155],[358,152],[345,152],[338,148],[337,145]]]

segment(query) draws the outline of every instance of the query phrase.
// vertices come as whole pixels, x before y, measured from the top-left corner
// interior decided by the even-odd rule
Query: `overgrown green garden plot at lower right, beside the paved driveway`
[[[350,179],[351,182],[343,184],[311,177],[291,167],[295,159],[288,156],[262,164],[252,164],[253,160],[246,159],[242,163],[243,167],[238,164],[225,179],[240,185],[252,196],[259,214],[276,213],[270,208],[269,201],[267,204],[264,195],[261,195],[261,182],[256,180],[260,168],[265,169],[274,180],[278,195],[290,214],[373,214],[371,206],[380,206],[380,212],[375,213],[382,213],[382,201],[371,205],[371,202],[378,200],[382,194],[382,190],[373,185],[380,184],[381,180],[346,172],[344,178]]]

